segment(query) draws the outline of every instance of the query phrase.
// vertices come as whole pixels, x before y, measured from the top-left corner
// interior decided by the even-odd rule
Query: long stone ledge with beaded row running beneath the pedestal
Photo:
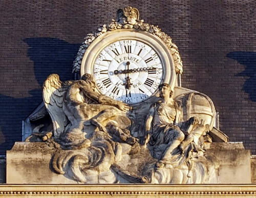
[[[4,197],[255,197],[256,185],[0,185]]]

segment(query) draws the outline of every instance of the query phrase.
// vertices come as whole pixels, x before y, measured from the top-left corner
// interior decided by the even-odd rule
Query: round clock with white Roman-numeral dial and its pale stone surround
[[[158,86],[176,82],[174,60],[165,43],[143,31],[120,29],[98,36],[81,63],[99,93],[129,104],[158,94]]]

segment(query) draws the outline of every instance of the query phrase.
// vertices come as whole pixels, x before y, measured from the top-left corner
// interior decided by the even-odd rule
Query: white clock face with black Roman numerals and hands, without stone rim
[[[101,94],[135,104],[158,91],[163,64],[152,47],[135,39],[123,39],[99,52],[92,72]]]

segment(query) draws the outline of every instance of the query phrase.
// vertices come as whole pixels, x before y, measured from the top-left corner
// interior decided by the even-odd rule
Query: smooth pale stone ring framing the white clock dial
[[[174,89],[176,85],[175,64],[165,43],[157,36],[133,29],[120,29],[98,36],[83,56],[80,70],[81,76],[85,73],[93,74],[93,65],[99,53],[110,43],[123,39],[138,40],[152,47],[158,53],[163,64],[163,83],[169,84]]]

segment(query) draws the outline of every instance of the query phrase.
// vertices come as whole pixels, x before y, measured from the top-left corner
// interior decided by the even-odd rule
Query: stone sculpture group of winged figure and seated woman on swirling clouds
[[[183,120],[186,97],[172,98],[168,84],[150,105],[129,106],[95,91],[90,74],[43,86],[53,122],[52,170],[80,183],[209,183],[218,160],[207,155],[204,120]],[[147,109],[145,109],[147,108]],[[138,109],[146,112],[137,114]],[[139,112],[140,112],[139,111]]]

